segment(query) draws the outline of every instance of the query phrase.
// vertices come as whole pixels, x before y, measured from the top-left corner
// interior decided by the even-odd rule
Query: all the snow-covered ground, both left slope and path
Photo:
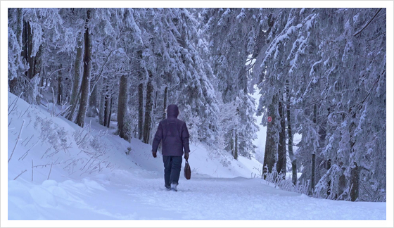
[[[8,167],[1,187],[1,227],[340,226],[388,227],[386,203],[329,201],[275,189],[259,177],[262,164],[191,145],[192,178],[166,191],[162,157],[151,146],[113,134],[87,118],[85,127],[29,106],[8,93]],[[15,106],[14,106],[14,103]],[[55,110],[55,115],[59,110]],[[4,124],[4,123],[3,123]],[[2,125],[4,126],[4,125]],[[22,129],[22,130],[20,130]],[[19,139],[18,139],[19,138]],[[2,141],[3,143],[3,141]],[[127,153],[129,154],[127,155]],[[9,160],[7,164],[7,160]],[[184,164],[182,164],[184,165]],[[3,171],[3,169],[2,169]],[[4,177],[3,173],[2,177]],[[8,200],[7,200],[8,198]],[[4,211],[6,210],[6,211]],[[5,215],[5,217],[4,217]],[[88,222],[15,220],[96,220]],[[105,222],[97,220],[333,220],[310,222]],[[390,215],[390,221],[392,217]]]

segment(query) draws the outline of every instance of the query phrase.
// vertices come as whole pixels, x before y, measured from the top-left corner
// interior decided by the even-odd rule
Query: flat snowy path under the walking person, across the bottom
[[[45,181],[26,189],[32,202],[26,196],[25,208],[13,201],[13,194],[20,196],[22,190],[11,181],[9,219],[18,220],[18,215],[36,207],[47,220],[386,220],[386,203],[371,207],[309,198],[274,189],[262,179],[182,178],[174,192],[165,190],[158,174],[146,178],[117,170],[110,176]]]

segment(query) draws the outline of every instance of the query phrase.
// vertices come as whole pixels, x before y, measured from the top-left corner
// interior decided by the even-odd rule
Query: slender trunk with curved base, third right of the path
[[[291,182],[296,185],[297,184],[297,158],[295,158],[293,153],[293,131],[291,129],[291,95],[290,95],[290,86],[288,84],[288,80],[286,81],[286,99],[287,99],[287,134],[288,134],[288,156],[291,160]]]

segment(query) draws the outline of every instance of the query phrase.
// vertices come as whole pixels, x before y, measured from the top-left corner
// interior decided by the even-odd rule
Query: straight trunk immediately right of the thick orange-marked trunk
[[[286,179],[286,125],[282,102],[279,102],[278,111],[281,118],[281,132],[279,132],[277,172],[282,173],[283,178]]]

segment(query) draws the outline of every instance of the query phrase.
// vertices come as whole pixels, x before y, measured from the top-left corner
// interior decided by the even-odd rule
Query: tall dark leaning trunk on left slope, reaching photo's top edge
[[[90,19],[90,10],[87,10],[87,20]],[[84,127],[84,119],[87,113],[87,105],[89,102],[89,90],[90,90],[90,73],[91,73],[91,38],[89,35],[89,28],[85,25],[84,34],[84,75],[82,77],[81,84],[81,102],[80,109],[78,110],[76,123],[80,127]]]

